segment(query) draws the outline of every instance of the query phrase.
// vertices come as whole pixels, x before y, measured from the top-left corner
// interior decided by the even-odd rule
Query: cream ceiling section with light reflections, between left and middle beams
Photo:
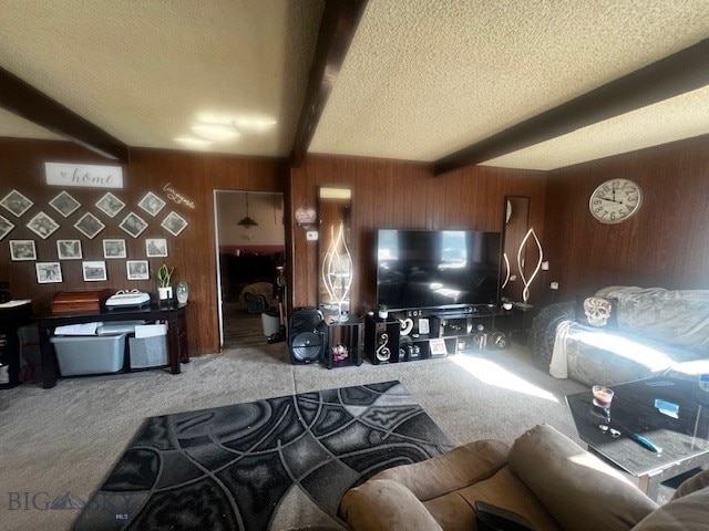
[[[214,150],[286,155],[321,0],[1,0],[0,66],[130,146],[179,148],[198,115],[275,118]],[[0,135],[14,136],[0,123]]]

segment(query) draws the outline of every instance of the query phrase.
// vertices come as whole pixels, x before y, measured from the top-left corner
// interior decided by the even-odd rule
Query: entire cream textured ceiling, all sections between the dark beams
[[[0,66],[130,146],[198,115],[292,148],[323,0],[0,0]],[[310,153],[435,160],[709,37],[707,0],[369,0]],[[709,133],[706,90],[486,164],[551,169]],[[0,136],[56,138],[0,112]]]

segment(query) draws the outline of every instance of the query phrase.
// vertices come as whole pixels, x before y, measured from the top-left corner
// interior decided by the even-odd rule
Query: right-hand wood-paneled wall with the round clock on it
[[[592,218],[588,198],[606,179],[637,181],[639,212],[618,225]],[[546,238],[558,298],[606,285],[708,289],[709,136],[549,174]]]

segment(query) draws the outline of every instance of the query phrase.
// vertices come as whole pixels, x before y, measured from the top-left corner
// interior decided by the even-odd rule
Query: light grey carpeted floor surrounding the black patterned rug
[[[0,392],[2,529],[71,529],[78,507],[101,488],[148,417],[320,389],[400,381],[455,444],[512,442],[541,423],[578,440],[564,396],[585,387],[540,372],[517,345],[331,371],[288,360],[285,343],[264,343],[194,358],[179,375],[158,369],[62,378],[52,389],[25,384]],[[281,500],[271,529],[328,525],[298,490]]]

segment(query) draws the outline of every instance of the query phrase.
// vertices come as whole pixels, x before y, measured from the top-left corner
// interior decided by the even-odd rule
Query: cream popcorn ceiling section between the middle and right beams
[[[435,160],[707,37],[707,0],[370,1],[310,150]],[[575,140],[565,163],[592,153]]]

